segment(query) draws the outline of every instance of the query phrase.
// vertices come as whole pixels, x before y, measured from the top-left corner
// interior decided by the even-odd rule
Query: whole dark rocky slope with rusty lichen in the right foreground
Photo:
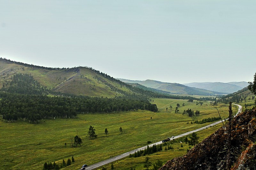
[[[232,170],[256,169],[256,109],[237,115],[231,122],[231,162]],[[215,133],[197,144],[189,152],[169,160],[159,170],[214,170],[227,169],[226,141],[228,126],[221,127]]]

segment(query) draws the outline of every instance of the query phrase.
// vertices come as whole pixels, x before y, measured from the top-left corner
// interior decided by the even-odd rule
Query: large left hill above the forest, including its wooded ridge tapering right
[[[32,76],[52,92],[91,97],[177,98],[152,90],[143,90],[89,67],[48,68],[0,58],[0,88],[10,85],[15,74]],[[188,99],[189,97],[178,97]],[[195,98],[194,98],[195,99]]]

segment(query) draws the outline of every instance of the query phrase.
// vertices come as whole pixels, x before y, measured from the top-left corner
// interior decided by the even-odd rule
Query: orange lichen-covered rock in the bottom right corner
[[[256,169],[256,144],[250,144],[245,151],[242,152],[240,158],[231,170],[254,170]]]

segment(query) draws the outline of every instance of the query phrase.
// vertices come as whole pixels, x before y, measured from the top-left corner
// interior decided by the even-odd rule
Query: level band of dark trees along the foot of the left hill
[[[0,115],[7,122],[23,120],[38,123],[42,119],[76,118],[77,114],[115,113],[138,109],[157,112],[149,101],[122,98],[68,98],[0,92]]]

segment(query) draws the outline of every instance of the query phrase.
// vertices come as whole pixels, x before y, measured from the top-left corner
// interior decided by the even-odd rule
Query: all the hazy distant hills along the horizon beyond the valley
[[[248,86],[247,82],[229,82],[229,83],[221,83],[221,82],[203,82],[203,83],[187,83],[187,84],[178,84],[178,83],[164,83],[156,80],[127,80],[122,78],[116,78],[120,81],[125,83],[132,83],[132,84],[140,84],[146,87],[155,88],[158,90],[163,90],[166,92],[171,92],[174,94],[189,94],[189,90],[193,91],[200,91],[200,92],[207,92],[207,93],[216,93],[218,94],[228,94],[237,92],[238,90],[243,89],[244,87]],[[189,88],[189,87],[192,87]],[[196,88],[196,89],[195,89]],[[207,91],[203,91],[207,90]],[[193,92],[195,94],[195,92]]]

